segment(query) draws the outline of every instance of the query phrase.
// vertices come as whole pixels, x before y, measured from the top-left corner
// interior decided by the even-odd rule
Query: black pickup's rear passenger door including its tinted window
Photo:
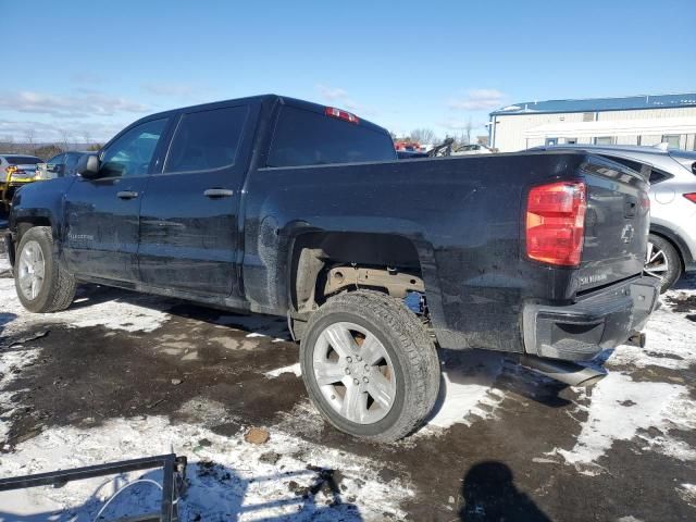
[[[206,297],[236,284],[237,213],[258,107],[232,102],[183,112],[140,210],[140,279]]]

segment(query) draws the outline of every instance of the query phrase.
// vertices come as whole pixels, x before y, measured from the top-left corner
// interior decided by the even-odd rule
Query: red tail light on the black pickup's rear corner
[[[587,201],[583,182],[534,187],[526,202],[526,254],[561,266],[576,266],[583,252]]]

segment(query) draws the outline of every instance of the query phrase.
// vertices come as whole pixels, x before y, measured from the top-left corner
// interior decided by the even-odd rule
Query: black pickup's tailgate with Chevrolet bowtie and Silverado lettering
[[[583,164],[585,238],[577,289],[584,293],[643,271],[650,226],[647,176],[604,158]]]

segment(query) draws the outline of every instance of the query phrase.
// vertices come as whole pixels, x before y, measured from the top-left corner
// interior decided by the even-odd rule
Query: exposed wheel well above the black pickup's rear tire
[[[408,238],[391,234],[307,233],[294,244],[290,264],[290,302],[300,313],[322,304],[332,290],[348,288],[348,283],[327,284],[336,268],[355,269],[350,281],[353,288],[370,287],[386,294],[402,293],[405,285],[422,288],[418,251]],[[364,270],[372,270],[373,279],[365,279]],[[335,273],[335,272],[334,272]],[[357,279],[359,273],[362,279]],[[388,277],[389,276],[394,276]],[[341,274],[343,275],[343,274]],[[327,293],[328,291],[328,293]]]

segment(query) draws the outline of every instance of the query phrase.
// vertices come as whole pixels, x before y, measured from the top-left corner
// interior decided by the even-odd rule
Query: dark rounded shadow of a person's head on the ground
[[[462,522],[551,522],[529,495],[517,488],[512,470],[494,460],[469,469],[458,504]]]

